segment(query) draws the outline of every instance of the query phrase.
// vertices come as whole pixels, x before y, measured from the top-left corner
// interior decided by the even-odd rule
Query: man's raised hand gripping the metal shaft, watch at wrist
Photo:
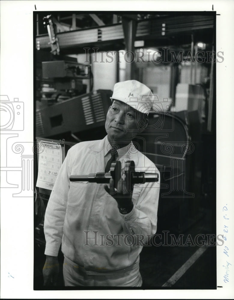
[[[132,210],[132,192],[126,187],[126,179],[118,181],[117,189],[114,188],[114,179],[110,179],[110,188],[107,184],[104,188],[116,200],[118,208],[127,208],[129,212]]]

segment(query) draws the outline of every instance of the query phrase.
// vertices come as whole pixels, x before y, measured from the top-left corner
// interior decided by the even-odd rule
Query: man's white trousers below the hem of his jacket
[[[138,267],[114,275],[87,275],[83,268],[72,265],[64,257],[63,279],[65,286],[141,286],[142,279]]]

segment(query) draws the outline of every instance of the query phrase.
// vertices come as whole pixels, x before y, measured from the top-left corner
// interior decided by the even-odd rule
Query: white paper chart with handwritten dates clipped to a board
[[[37,187],[53,190],[54,183],[62,166],[62,145],[40,141]]]

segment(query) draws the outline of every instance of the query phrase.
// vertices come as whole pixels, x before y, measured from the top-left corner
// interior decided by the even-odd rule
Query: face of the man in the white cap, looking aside
[[[136,111],[124,102],[114,100],[106,115],[105,129],[109,142],[130,142],[139,132]]]

